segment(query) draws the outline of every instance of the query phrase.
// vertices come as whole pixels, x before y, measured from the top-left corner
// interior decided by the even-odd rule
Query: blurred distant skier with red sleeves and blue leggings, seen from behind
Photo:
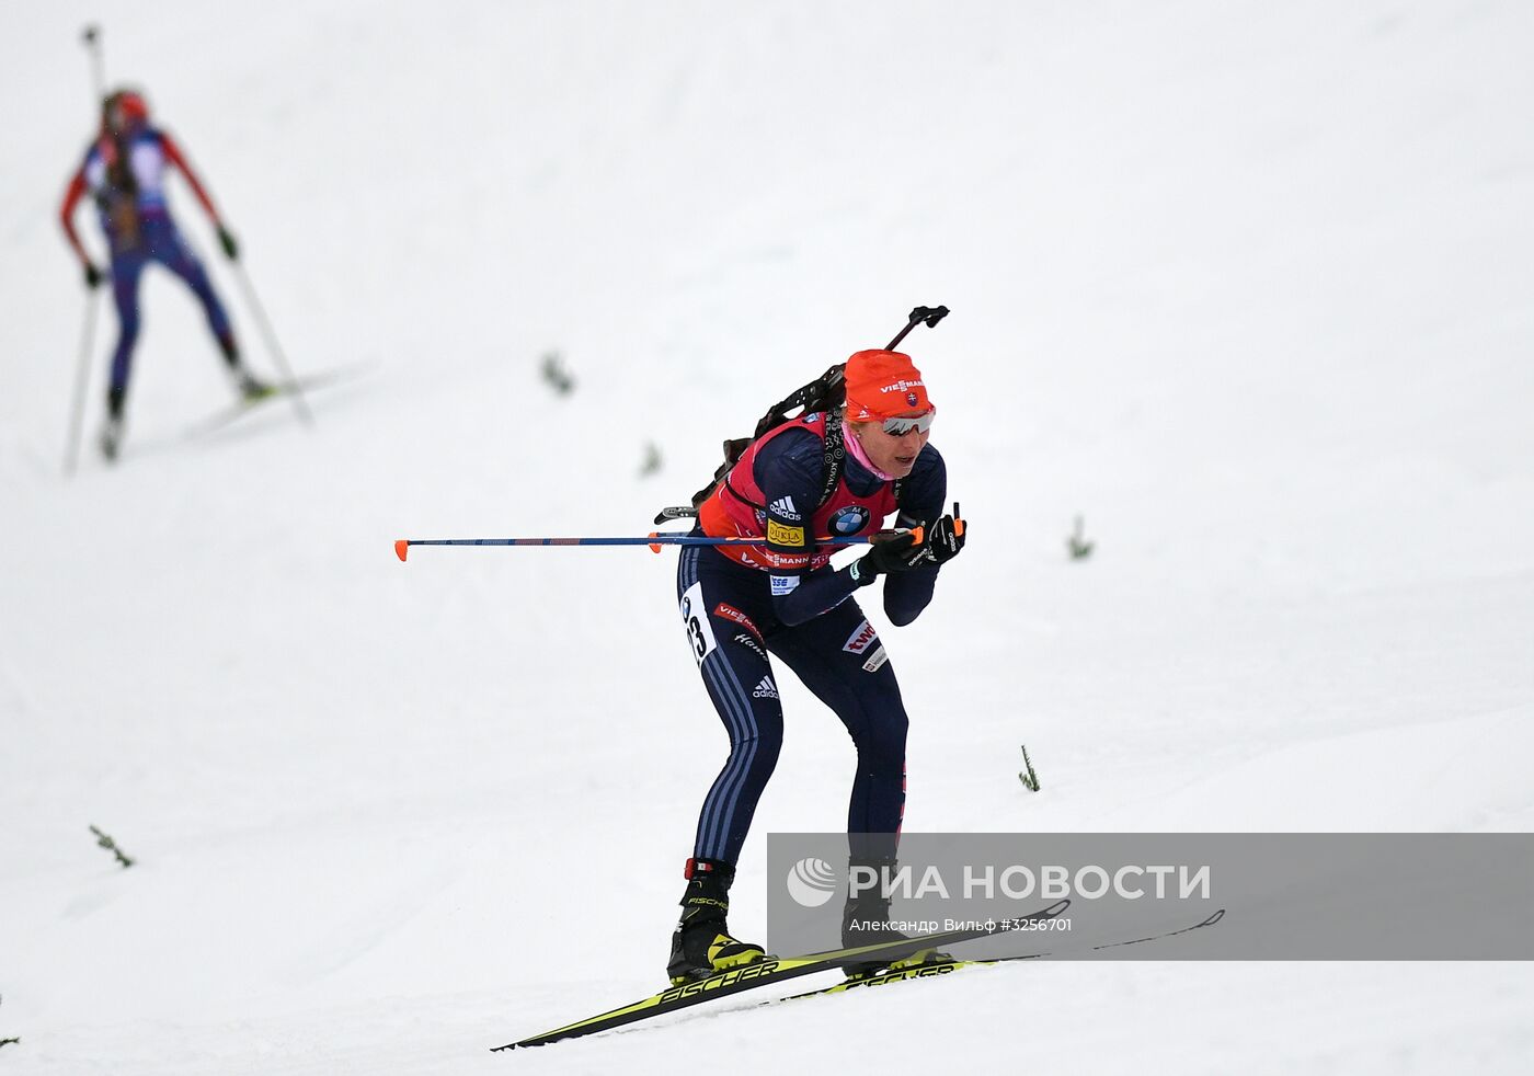
[[[192,192],[218,229],[218,241],[233,261],[239,256],[235,236],[224,226],[198,175],[169,134],[150,126],[149,103],[143,94],[120,89],[101,103],[101,130],[86,150],[84,161],[69,180],[58,216],[69,246],[80,258],[86,287],[112,281],[120,335],[112,353],[112,376],[107,388],[107,421],[101,431],[101,451],[115,459],[123,439],[123,402],[138,341],[138,278],[149,262],[160,262],[192,289],[209,328],[224,355],[235,388],[245,399],[259,399],[273,390],[258,381],[241,362],[239,345],[229,313],[219,302],[207,270],[181,238],[166,203],[166,170],[178,167],[192,184]],[[86,253],[75,232],[74,215],[81,198],[91,195],[97,204],[101,230],[106,233],[109,267],[103,272]]]

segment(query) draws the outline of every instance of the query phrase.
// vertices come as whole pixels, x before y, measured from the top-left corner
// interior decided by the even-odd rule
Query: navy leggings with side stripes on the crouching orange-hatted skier
[[[683,546],[676,568],[687,640],[730,734],[693,855],[736,863],[782,746],[782,705],[769,654],[831,708],[858,748],[847,832],[853,858],[894,858],[905,810],[905,705],[894,669],[854,599],[788,626],[772,612],[767,573],[709,546]]]

